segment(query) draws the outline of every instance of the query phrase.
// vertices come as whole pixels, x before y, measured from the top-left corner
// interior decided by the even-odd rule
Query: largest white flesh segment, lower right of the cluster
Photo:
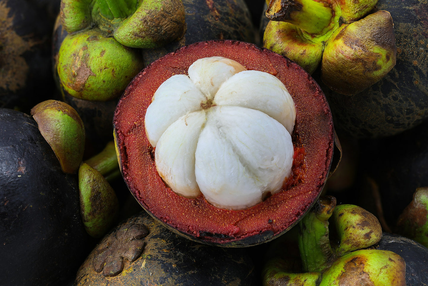
[[[276,193],[291,173],[293,144],[282,124],[238,106],[215,106],[196,147],[196,181],[219,208],[244,209]]]

